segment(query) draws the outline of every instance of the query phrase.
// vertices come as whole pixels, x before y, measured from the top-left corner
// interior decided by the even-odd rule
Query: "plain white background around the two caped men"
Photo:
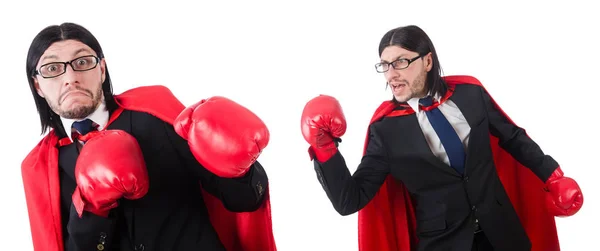
[[[4,247],[31,250],[20,164],[40,127],[25,76],[27,49],[41,29],[66,21],[99,39],[116,93],[162,84],[186,105],[224,95],[266,122],[271,141],[259,160],[270,176],[279,250],[357,250],[357,214],[338,215],[317,182],[300,115],[318,94],[339,99],[348,121],[340,149],[353,172],[374,109],[391,97],[373,67],[379,39],[397,26],[419,25],[446,75],[479,78],[579,182],[583,209],[557,219],[563,250],[596,246],[600,20],[592,4],[120,2],[15,1],[0,8]]]

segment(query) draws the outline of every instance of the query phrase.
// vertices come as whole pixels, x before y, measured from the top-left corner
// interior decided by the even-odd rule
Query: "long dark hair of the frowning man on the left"
[[[94,35],[92,35],[92,33],[86,28],[78,24],[62,23],[61,25],[51,25],[44,28],[35,36],[31,42],[31,45],[29,46],[29,51],[27,52],[26,72],[27,80],[29,81],[29,88],[31,89],[33,100],[35,101],[37,111],[40,115],[42,134],[48,131],[49,128],[62,128],[62,123],[60,122],[60,116],[50,109],[50,106],[46,100],[39,96],[35,89],[35,82],[33,80],[36,71],[35,67],[38,64],[40,57],[44,54],[48,47],[50,47],[50,45],[55,42],[70,39],[86,44],[92,48],[94,52],[96,52],[98,58],[104,58],[102,47],[100,46],[100,43],[96,37],[94,37]],[[105,74],[106,78],[102,83],[102,93],[106,102],[106,108],[110,111],[116,109],[117,104],[113,97],[112,83],[110,81],[110,75],[108,74],[108,67],[105,69]]]

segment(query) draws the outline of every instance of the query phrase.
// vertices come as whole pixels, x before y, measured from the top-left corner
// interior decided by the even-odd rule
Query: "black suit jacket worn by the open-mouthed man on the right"
[[[366,154],[352,175],[340,152],[324,163],[315,161],[319,181],[342,215],[369,203],[388,174],[403,182],[415,204],[419,250],[471,250],[475,219],[495,250],[530,250],[497,175],[489,135],[542,181],[558,164],[508,121],[483,88],[457,85],[450,99],[471,127],[464,175],[431,152],[412,114],[371,124]]]

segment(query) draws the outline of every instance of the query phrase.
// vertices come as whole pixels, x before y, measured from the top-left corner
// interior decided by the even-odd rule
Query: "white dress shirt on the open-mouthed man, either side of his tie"
[[[434,100],[439,100],[439,96],[435,96]],[[408,100],[407,103],[415,111],[417,120],[419,121],[419,125],[421,126],[421,130],[423,131],[425,139],[427,140],[427,144],[429,144],[429,148],[431,148],[433,154],[440,158],[442,161],[444,161],[446,164],[450,165],[448,154],[446,154],[446,151],[444,150],[444,146],[442,145],[440,138],[431,126],[431,123],[429,123],[429,119],[427,119],[425,111],[419,108],[419,98],[412,98]],[[452,125],[452,127],[458,134],[458,137],[463,143],[466,152],[466,149],[469,144],[469,134],[471,132],[471,127],[469,126],[469,123],[467,123],[467,120],[463,116],[460,109],[458,109],[456,104],[450,99],[444,101],[444,103],[440,104],[438,108],[440,109],[442,114],[444,114],[444,117],[446,117],[448,122],[450,122],[450,125]]]

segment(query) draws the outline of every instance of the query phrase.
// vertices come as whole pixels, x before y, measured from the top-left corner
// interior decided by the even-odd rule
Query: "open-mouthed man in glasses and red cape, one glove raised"
[[[387,32],[379,56],[393,98],[373,115],[354,174],[337,149],[338,101],[320,95],[302,114],[327,196],[341,215],[359,212],[360,250],[559,250],[554,217],[579,211],[577,183],[477,79],[442,77],[419,27]]]

